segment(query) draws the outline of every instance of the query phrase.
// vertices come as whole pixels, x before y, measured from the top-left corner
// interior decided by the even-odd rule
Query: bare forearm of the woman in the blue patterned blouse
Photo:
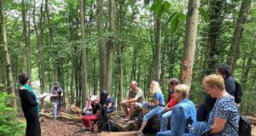
[[[211,133],[214,134],[214,133],[220,133],[221,131],[223,131],[226,122],[227,122],[226,119],[215,116],[213,125],[211,127]]]

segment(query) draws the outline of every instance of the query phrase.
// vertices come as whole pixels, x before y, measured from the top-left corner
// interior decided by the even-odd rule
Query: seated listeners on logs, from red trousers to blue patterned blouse
[[[149,96],[153,101],[145,102],[143,90],[137,87],[136,81],[133,81],[128,97],[122,100],[120,105],[125,111],[126,120],[131,120],[134,110],[143,111],[143,123],[138,135],[143,135],[143,129],[150,118],[158,116],[160,119],[160,132],[156,134],[158,136],[201,135],[203,133],[238,136],[240,115],[232,96],[234,92],[230,93],[231,86],[235,86],[235,81],[232,82],[231,78],[234,80],[230,74],[230,67],[224,64],[217,66],[216,74],[204,77],[202,83],[207,97],[213,99],[212,109],[200,107],[196,111],[195,104],[188,99],[189,86],[180,84],[177,78],[172,78],[168,82],[170,90],[166,102],[159,82],[150,83]],[[110,98],[112,97],[108,97],[107,110],[113,108],[109,112],[115,109],[114,100],[113,98],[109,100]],[[100,116],[102,105],[99,104],[96,96],[91,96],[90,100],[92,113],[89,116],[83,116],[82,119],[84,125],[91,128],[90,120],[96,120],[96,116]],[[209,102],[206,100],[205,103]],[[168,123],[171,124],[169,128],[167,128]]]

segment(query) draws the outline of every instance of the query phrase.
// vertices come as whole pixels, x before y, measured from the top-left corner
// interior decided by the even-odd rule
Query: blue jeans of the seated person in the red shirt
[[[172,111],[167,111],[165,113],[165,110],[163,109],[157,113],[157,116],[159,117],[160,124],[161,124],[160,132],[166,131],[168,121],[171,120]]]

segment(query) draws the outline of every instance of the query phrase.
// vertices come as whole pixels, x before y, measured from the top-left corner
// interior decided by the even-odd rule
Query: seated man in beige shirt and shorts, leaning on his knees
[[[136,108],[136,110],[142,110],[143,108],[143,100],[144,100],[144,94],[143,90],[141,88],[137,88],[137,82],[132,81],[131,82],[131,90],[128,94],[128,98],[123,100],[120,105],[122,106],[123,110],[126,114],[126,119],[131,119],[131,114]],[[130,108],[130,111],[128,112],[127,107]]]

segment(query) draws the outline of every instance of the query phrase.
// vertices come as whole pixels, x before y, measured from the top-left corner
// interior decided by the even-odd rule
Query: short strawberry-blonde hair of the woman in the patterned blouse
[[[219,90],[224,90],[225,89],[225,84],[224,84],[224,78],[221,75],[208,75],[204,77],[203,79],[203,84],[209,87],[209,88],[214,88],[217,87]]]

